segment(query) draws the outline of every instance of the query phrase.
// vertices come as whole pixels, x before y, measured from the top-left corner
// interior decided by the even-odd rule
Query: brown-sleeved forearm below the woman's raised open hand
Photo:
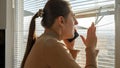
[[[86,48],[86,66],[85,68],[97,68],[96,57],[98,50]]]

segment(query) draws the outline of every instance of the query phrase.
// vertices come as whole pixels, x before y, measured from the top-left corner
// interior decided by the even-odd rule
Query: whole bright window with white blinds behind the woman
[[[87,32],[86,28],[90,26],[91,22],[95,21],[96,14],[98,16],[100,15],[100,17],[104,16],[100,20],[100,22],[96,25],[97,27],[96,33],[98,36],[97,48],[100,50],[98,54],[98,68],[113,68],[115,65],[114,0],[69,0],[69,1],[72,6],[72,10],[76,14],[76,18],[79,22],[77,29],[80,35],[86,36]],[[46,2],[47,0],[24,0],[23,2],[21,2],[24,4],[24,7],[23,4],[21,4],[22,8],[20,8],[22,12],[19,12],[18,11],[19,9],[17,9],[16,11],[18,12],[18,14],[24,13],[24,15],[23,17],[21,16],[23,18],[23,23],[21,24],[22,29],[20,29],[21,27],[16,27],[18,31],[15,32],[16,35],[15,39],[17,40],[17,43],[15,43],[14,51],[15,68],[20,67],[20,63],[24,55],[31,17],[40,8],[43,8]],[[99,13],[100,7],[102,7],[101,13]],[[19,18],[17,18],[17,21],[18,20]],[[40,25],[40,20],[41,19],[36,20],[37,23],[36,31],[38,36],[44,31],[43,27]],[[19,43],[21,43],[22,46]],[[76,39],[75,44],[76,44],[75,48],[81,50],[76,62],[80,64],[81,67],[84,67],[85,46],[80,38]]]

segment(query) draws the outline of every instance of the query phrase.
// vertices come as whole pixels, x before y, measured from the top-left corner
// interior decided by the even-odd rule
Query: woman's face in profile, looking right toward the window
[[[74,37],[74,30],[75,30],[75,25],[77,25],[78,22],[76,21],[74,14],[72,12],[69,13],[66,23],[65,23],[65,37],[66,39]]]

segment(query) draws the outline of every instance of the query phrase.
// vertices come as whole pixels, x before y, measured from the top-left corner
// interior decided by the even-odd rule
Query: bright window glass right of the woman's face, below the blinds
[[[78,18],[78,26],[88,27],[95,21],[95,17],[89,18]],[[85,28],[77,29],[80,35],[86,36],[87,30]],[[115,23],[114,15],[105,16],[96,25],[96,34],[98,38],[97,49],[99,49],[98,54],[98,68],[114,68],[115,61]],[[85,65],[85,46],[82,40],[78,38],[76,40],[75,48],[80,49],[80,53],[77,58],[77,62],[84,67]]]

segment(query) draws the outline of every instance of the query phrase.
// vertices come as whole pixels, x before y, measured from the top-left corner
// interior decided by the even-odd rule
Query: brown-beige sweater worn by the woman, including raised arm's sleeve
[[[74,53],[74,50],[73,50]],[[97,68],[98,51],[86,49],[86,67]],[[77,54],[77,53],[76,53]],[[24,68],[81,68],[55,33],[44,33],[35,42]]]

